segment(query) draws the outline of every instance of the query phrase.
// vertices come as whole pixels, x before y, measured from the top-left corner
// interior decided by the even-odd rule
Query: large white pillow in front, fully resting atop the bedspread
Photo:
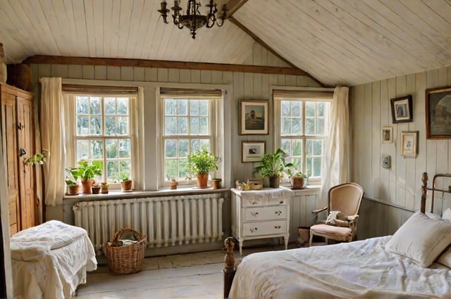
[[[451,222],[415,213],[395,232],[385,249],[429,267],[451,243]]]

